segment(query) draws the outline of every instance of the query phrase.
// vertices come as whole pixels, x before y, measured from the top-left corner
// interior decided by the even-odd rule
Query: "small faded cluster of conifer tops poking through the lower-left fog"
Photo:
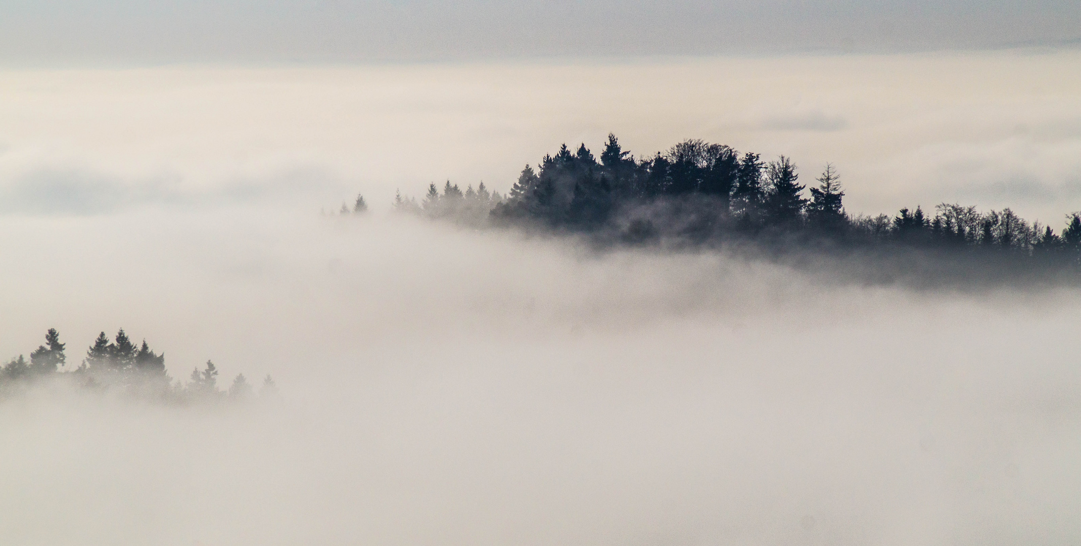
[[[59,333],[50,329],[45,344],[31,351],[29,360],[19,355],[0,367],[0,394],[11,395],[46,382],[67,382],[90,390],[171,402],[243,401],[256,396],[244,374],[238,374],[227,389],[219,388],[219,371],[210,360],[202,370],[192,370],[187,383],[174,381],[165,371],[165,356],[151,350],[146,339],[136,346],[123,329],[112,339],[105,332],[98,334],[77,367],[68,365],[66,346]],[[277,394],[277,385],[267,375],[257,396],[272,398]]]

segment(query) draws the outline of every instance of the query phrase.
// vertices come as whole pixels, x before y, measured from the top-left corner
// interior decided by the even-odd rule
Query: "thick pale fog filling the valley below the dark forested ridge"
[[[299,208],[0,217],[0,356],[99,331],[277,403],[0,402],[12,545],[1081,541],[1081,293]]]

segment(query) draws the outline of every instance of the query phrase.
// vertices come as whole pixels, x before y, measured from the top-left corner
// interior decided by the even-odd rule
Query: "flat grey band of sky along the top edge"
[[[0,63],[911,52],[1081,40],[1067,0],[8,0]]]

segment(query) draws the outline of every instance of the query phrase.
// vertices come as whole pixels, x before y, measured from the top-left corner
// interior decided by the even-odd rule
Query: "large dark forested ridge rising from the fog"
[[[463,191],[448,181],[442,191],[429,185],[419,203],[399,194],[393,204],[476,227],[515,226],[600,244],[726,247],[780,258],[810,252],[842,262],[858,256],[873,263],[865,272],[883,281],[1077,277],[1081,213],[1067,214],[1060,232],[1010,209],[951,203],[853,216],[833,165],[804,181],[784,156],[765,161],[690,139],[635,158],[610,134],[599,157],[585,144],[573,150],[564,144],[536,168],[525,165],[506,198],[483,183]]]

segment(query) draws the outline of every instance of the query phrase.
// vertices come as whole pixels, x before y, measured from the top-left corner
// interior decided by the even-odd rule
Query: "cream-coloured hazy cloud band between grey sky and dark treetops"
[[[484,181],[560,143],[648,156],[684,138],[813,183],[853,213],[962,202],[1060,227],[1081,209],[1081,53],[704,57],[0,72],[0,211],[285,202]]]

